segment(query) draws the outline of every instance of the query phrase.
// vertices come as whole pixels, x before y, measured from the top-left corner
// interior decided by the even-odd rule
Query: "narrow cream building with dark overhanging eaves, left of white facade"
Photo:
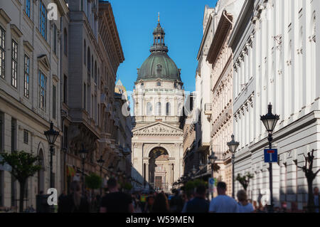
[[[210,103],[205,114],[210,117],[210,150],[218,157],[218,176],[232,194],[232,162],[227,142],[233,134],[233,53],[228,40],[243,1],[220,0],[214,9],[214,35],[206,60],[210,70]],[[210,111],[211,110],[211,111]]]

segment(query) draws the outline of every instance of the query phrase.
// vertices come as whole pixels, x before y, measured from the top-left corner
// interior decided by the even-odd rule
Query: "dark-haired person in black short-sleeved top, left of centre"
[[[110,178],[107,186],[110,193],[102,198],[100,213],[133,213],[132,198],[119,191],[117,180]]]

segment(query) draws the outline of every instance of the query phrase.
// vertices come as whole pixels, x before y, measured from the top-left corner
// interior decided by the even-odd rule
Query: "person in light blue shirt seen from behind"
[[[211,213],[238,213],[238,204],[235,199],[227,196],[227,184],[220,181],[217,184],[218,196],[210,202],[209,212]]]

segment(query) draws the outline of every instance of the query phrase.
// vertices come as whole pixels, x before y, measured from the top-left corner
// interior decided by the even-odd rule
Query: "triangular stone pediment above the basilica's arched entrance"
[[[134,135],[159,135],[159,136],[183,136],[183,131],[178,127],[167,125],[163,122],[155,122],[151,125],[132,130]]]

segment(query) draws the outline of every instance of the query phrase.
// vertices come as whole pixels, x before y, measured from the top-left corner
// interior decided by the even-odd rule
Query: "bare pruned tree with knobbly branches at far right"
[[[314,166],[314,149],[312,149],[311,153],[308,152],[308,156],[304,155],[304,167],[299,167],[304,171],[304,175],[306,176],[306,181],[308,182],[308,212],[314,212],[314,193],[312,189],[312,183],[316,178],[316,174],[319,173],[320,169],[318,169],[315,173],[312,170]]]

